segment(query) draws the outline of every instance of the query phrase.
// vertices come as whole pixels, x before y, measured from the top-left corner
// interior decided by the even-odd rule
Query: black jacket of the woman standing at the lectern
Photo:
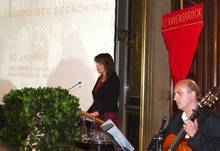
[[[99,115],[106,112],[118,112],[118,97],[120,90],[120,81],[116,73],[113,73],[101,86],[95,91],[96,85],[100,77],[97,79],[96,84],[92,91],[93,104],[88,112],[98,111]]]

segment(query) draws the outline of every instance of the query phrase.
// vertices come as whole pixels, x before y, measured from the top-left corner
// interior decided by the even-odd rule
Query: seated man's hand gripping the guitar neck
[[[197,120],[194,122],[191,120],[185,120],[183,128],[189,137],[193,137],[198,130],[198,122]]]

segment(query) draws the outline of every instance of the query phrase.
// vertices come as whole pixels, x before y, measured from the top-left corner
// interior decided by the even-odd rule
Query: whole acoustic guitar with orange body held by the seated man
[[[193,110],[193,113],[189,117],[189,120],[194,121],[205,107],[211,107],[218,101],[218,88],[215,87],[209,93],[201,99],[197,108]],[[187,145],[187,141],[184,140],[186,135],[185,130],[182,128],[177,136],[170,134],[166,137],[163,147],[165,151],[192,151]],[[171,145],[170,145],[171,144]]]

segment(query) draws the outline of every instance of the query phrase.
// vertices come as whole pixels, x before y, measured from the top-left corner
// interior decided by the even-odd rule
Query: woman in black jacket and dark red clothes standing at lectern
[[[110,54],[101,53],[94,58],[94,61],[99,77],[92,90],[93,104],[88,112],[103,121],[111,119],[119,126],[120,80],[115,72],[113,59]]]

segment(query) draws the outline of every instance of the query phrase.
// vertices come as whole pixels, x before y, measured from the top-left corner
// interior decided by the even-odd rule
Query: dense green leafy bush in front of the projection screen
[[[0,138],[10,150],[76,150],[72,144],[80,135],[79,99],[67,90],[11,90],[3,101],[5,127],[0,130]]]

